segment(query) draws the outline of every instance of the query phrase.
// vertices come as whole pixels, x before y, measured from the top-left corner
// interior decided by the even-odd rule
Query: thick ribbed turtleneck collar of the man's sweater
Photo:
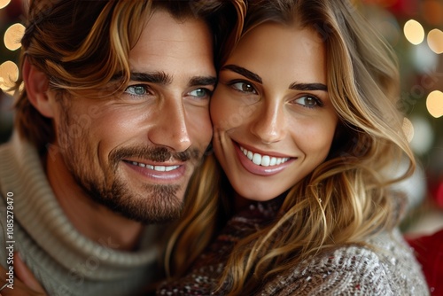
[[[35,147],[17,133],[1,146],[0,163],[0,188],[4,197],[7,192],[13,193],[15,221],[66,269],[93,256],[100,261],[93,277],[110,279],[152,263],[158,257],[158,247],[152,244],[158,233],[155,226],[146,227],[137,252],[112,249],[112,238],[97,243],[82,236],[58,205]]]

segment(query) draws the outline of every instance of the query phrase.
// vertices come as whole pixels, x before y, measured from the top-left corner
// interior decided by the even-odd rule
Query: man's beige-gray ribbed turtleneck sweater
[[[58,206],[35,148],[17,135],[0,146],[0,264],[11,261],[13,245],[49,295],[136,295],[157,273],[156,232],[147,228],[134,253],[113,250],[113,238],[83,237]]]

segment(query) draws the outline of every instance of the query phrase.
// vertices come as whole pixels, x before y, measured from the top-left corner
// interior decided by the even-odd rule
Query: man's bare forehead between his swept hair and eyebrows
[[[169,80],[214,76],[211,32],[203,21],[154,12],[129,52],[129,65],[133,73],[163,74]]]

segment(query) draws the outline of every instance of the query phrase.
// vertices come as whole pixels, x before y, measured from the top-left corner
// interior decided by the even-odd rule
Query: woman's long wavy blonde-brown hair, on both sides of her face
[[[344,0],[253,0],[244,33],[266,21],[316,30],[326,48],[328,90],[340,123],[330,155],[288,192],[274,222],[241,238],[221,277],[223,292],[253,292],[315,253],[363,244],[400,218],[400,195],[389,186],[415,168],[402,131],[399,74],[392,49]],[[386,167],[408,160],[400,177]],[[228,213],[232,188],[208,155],[188,191],[187,213],[171,239],[167,261],[181,275]],[[225,205],[228,205],[226,207]]]

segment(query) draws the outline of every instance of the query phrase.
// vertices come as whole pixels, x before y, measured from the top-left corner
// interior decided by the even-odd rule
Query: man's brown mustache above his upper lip
[[[109,159],[116,163],[122,159],[136,158],[162,162],[167,160],[198,160],[200,152],[196,148],[188,148],[183,152],[173,152],[167,147],[127,147],[119,148],[110,153]]]

